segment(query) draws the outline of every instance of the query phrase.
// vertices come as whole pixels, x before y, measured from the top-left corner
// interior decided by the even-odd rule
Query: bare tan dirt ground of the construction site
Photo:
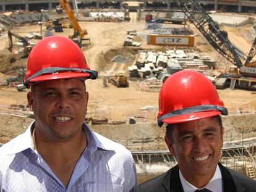
[[[88,80],[87,90],[90,94],[88,112],[101,111],[108,114],[108,117],[112,120],[126,120],[130,115],[136,114],[140,111],[140,108],[150,106],[151,111],[148,114],[156,114],[158,107],[158,93],[149,93],[139,91],[136,81],[129,81],[129,88],[116,88],[113,85],[103,87],[103,77],[113,75],[116,70],[126,70],[127,67],[132,65],[136,57],[136,53],[139,49],[163,49],[163,46],[148,45],[147,41],[143,38],[147,35],[148,30],[145,30],[145,21],[137,21],[136,17],[132,15],[131,22],[120,23],[103,23],[103,22],[80,22],[82,28],[86,28],[88,31],[88,38],[90,38],[91,44],[82,48],[87,58],[88,65],[93,70],[98,70],[100,78],[98,80]],[[172,25],[171,25],[172,26]],[[171,27],[170,26],[170,27]],[[177,25],[176,25],[177,27]],[[180,26],[181,27],[181,26]],[[244,50],[247,54],[250,49],[250,41],[247,41],[247,36],[251,25],[246,25],[240,28],[225,28],[229,31],[229,38],[240,49]],[[197,50],[205,52],[216,59],[218,57],[217,52],[209,45],[207,40],[198,32],[195,27],[190,24],[190,28],[195,31],[197,36],[195,37],[195,46]],[[137,30],[139,35],[138,40],[142,43],[140,48],[124,48],[123,42],[126,37],[127,30]],[[29,31],[40,31],[38,25],[25,26],[15,29],[16,33],[22,36],[27,35]],[[72,29],[64,29],[64,33],[58,35],[67,36],[72,33]],[[8,39],[6,34],[0,36],[0,72],[6,73],[8,70],[17,69],[17,67],[25,67],[26,60],[19,59],[17,56],[12,56],[7,52],[6,45]],[[165,47],[165,49],[172,49],[171,47]],[[111,62],[114,56],[121,55],[130,59],[126,64],[119,64],[118,62]],[[14,57],[15,62],[10,62],[10,59]],[[12,59],[12,61],[14,61]],[[128,75],[128,73],[127,73]],[[227,107],[239,107],[244,104],[251,104],[256,109],[256,99],[254,91],[246,90],[218,90],[221,99]],[[27,92],[18,92],[16,88],[8,88],[7,86],[0,86],[0,108],[6,107],[11,104],[27,105]],[[14,136],[21,133],[27,127],[31,119],[23,119],[18,117],[11,117],[9,115],[0,115],[0,143],[6,143]],[[148,123],[155,122],[154,119],[148,120]],[[248,121],[245,121],[245,127]],[[250,122],[252,123],[252,122]],[[116,125],[114,127],[125,127],[127,125]],[[143,127],[143,125],[140,125]],[[104,126],[103,126],[104,127]],[[145,127],[145,125],[144,125]],[[147,126],[146,126],[147,127]],[[154,126],[155,127],[155,126]],[[97,128],[98,131],[104,132]],[[133,127],[133,130],[134,129]],[[147,128],[137,128],[140,130],[136,132],[137,135],[144,136],[144,138],[152,138],[153,140],[160,140],[162,138],[162,130],[155,128],[156,132],[150,133],[156,135],[155,137],[147,136]],[[125,128],[118,128],[113,138],[113,133],[104,133],[109,138],[113,138],[117,141],[126,141],[127,138]],[[148,133],[149,134],[149,133]],[[127,135],[126,135],[127,136]],[[144,139],[143,138],[143,139]],[[140,138],[142,139],[142,138]],[[125,144],[125,143],[124,143]],[[125,144],[126,145],[126,144]],[[155,147],[154,147],[155,148]]]

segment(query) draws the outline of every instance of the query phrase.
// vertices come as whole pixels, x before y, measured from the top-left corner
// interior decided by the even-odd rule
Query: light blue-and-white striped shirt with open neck
[[[132,154],[85,123],[88,145],[66,188],[34,148],[32,125],[0,148],[0,191],[134,191],[137,178]]]

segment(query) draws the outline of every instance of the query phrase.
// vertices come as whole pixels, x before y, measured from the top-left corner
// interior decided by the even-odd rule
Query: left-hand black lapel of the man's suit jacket
[[[181,179],[179,178],[179,167],[174,166],[168,173],[167,177],[164,178],[162,185],[164,190],[168,192],[184,192]]]

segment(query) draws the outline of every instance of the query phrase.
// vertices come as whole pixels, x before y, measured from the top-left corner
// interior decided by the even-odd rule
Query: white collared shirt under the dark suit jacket
[[[183,177],[181,170],[179,170],[179,178],[181,179],[181,185],[184,192],[194,192],[195,190],[202,190],[203,188],[207,188],[207,190],[211,190],[213,192],[223,192],[223,182],[219,165],[217,165],[213,178],[211,178],[210,182],[208,182],[207,185],[203,186],[202,188],[197,188],[196,186],[187,182],[187,180]]]

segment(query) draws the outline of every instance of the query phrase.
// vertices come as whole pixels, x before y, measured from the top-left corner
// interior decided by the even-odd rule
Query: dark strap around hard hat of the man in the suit
[[[178,109],[176,111],[169,112],[168,114],[162,115],[158,119],[158,125],[161,127],[163,125],[163,120],[167,119],[169,117],[176,117],[179,115],[186,115],[186,114],[192,114],[194,112],[203,112],[203,111],[221,111],[222,115],[228,115],[228,109],[221,106],[215,106],[215,105],[202,105],[202,106],[194,106],[194,107],[188,107],[184,109]]]

